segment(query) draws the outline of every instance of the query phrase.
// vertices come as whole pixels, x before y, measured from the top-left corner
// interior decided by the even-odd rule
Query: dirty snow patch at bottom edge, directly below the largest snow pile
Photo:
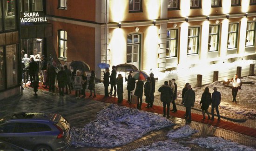
[[[189,147],[184,147],[182,144],[173,142],[171,139],[159,141],[151,145],[137,148],[133,151],[190,151]]]

